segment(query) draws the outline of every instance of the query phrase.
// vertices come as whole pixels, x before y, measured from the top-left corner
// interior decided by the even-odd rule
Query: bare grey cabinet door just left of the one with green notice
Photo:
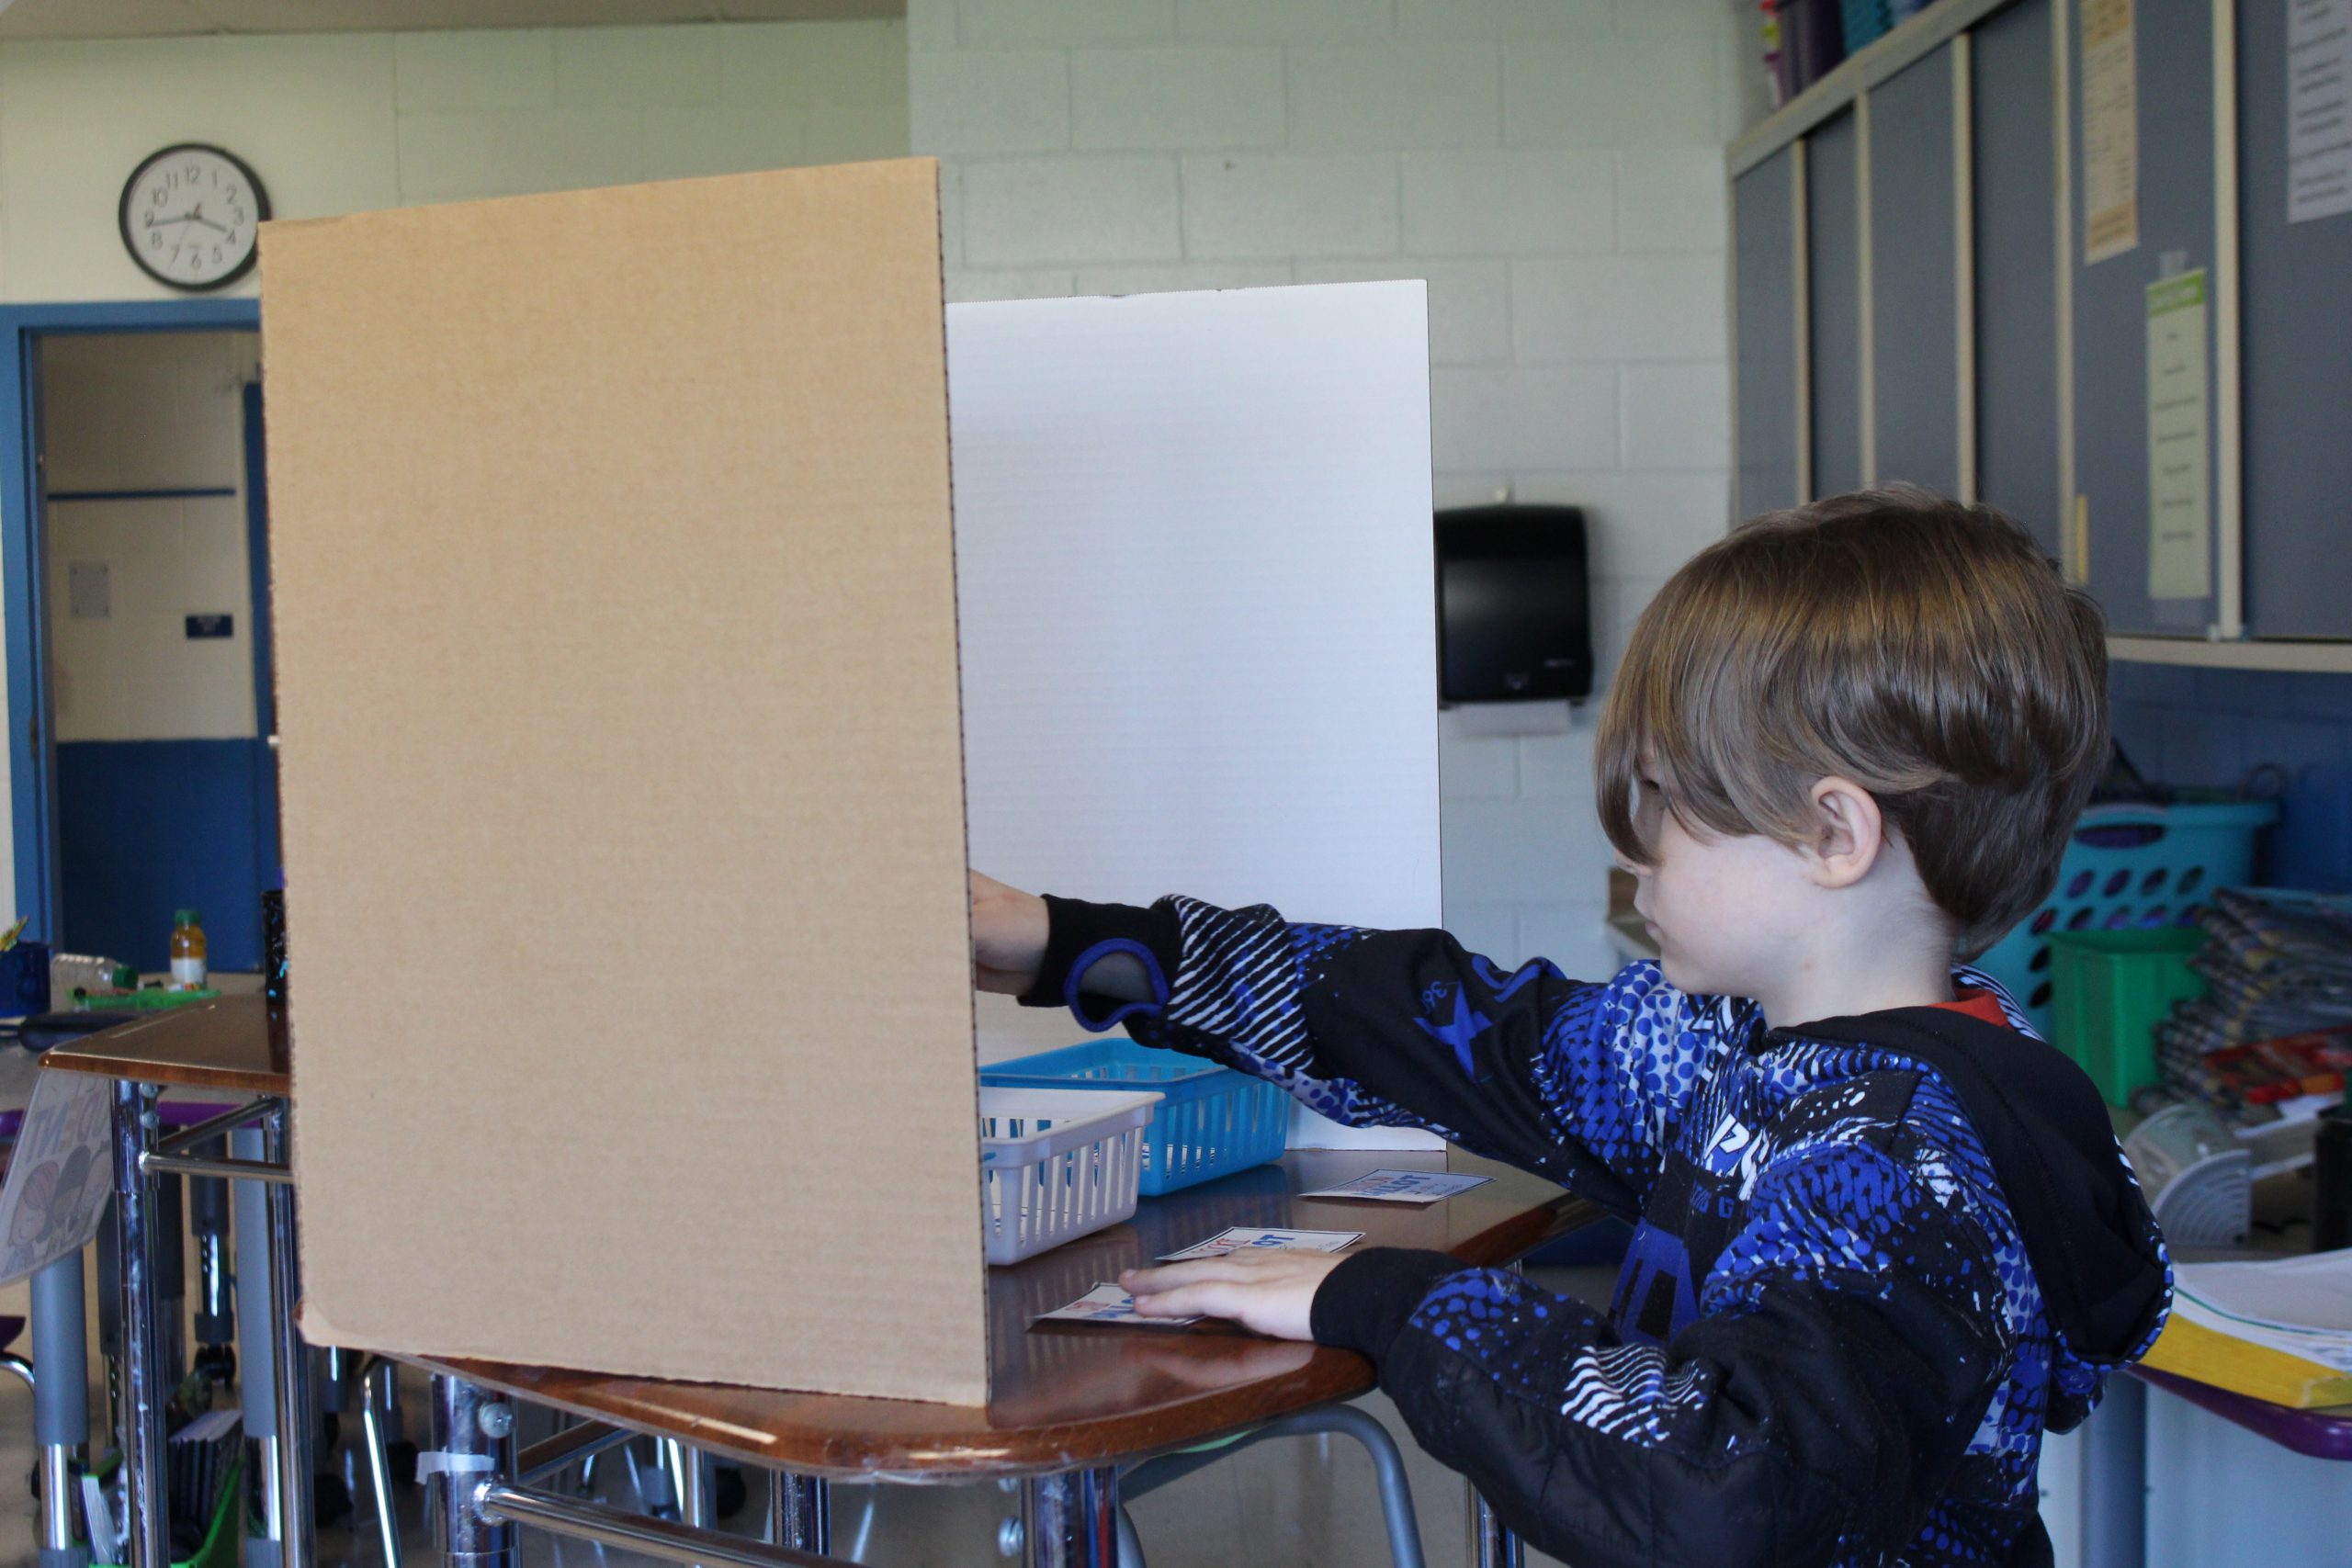
[[[1976,494],[2058,555],[2058,139],[2051,0],[1969,47],[1976,141]]]

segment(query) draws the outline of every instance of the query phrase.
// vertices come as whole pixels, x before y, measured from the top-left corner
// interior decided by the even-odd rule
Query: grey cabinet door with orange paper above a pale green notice
[[[2074,489],[2089,508],[2089,562],[2077,564],[2089,567],[2114,630],[2197,635],[2216,618],[2218,581],[2213,14],[2201,0],[2065,5]],[[2129,42],[2086,49],[2084,21],[2110,16],[2126,19]],[[2122,125],[2098,108],[2117,71],[2129,71]],[[2122,200],[2136,209],[2129,226],[2114,226],[2133,242],[2105,256],[2093,240],[2112,230],[2089,212],[2100,195],[2112,197],[2100,214],[2117,214]]]

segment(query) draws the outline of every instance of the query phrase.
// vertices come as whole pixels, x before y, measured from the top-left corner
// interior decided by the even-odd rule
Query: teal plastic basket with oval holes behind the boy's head
[[[2279,820],[2277,802],[2091,806],[2058,863],[2058,886],[1976,961],[2025,1009],[2044,1037],[2051,1009],[2051,945],[2058,931],[2154,931],[2194,926],[2218,886],[2253,877],[2253,832]]]

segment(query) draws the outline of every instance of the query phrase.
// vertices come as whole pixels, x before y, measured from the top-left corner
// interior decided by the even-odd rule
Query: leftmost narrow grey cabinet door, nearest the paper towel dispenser
[[[1738,268],[1738,515],[1797,505],[1797,153],[1731,181]]]

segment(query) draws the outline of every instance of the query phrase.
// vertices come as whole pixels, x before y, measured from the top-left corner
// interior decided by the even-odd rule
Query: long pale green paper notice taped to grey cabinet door
[[[2147,597],[2213,592],[2204,268],[2147,284]]]

